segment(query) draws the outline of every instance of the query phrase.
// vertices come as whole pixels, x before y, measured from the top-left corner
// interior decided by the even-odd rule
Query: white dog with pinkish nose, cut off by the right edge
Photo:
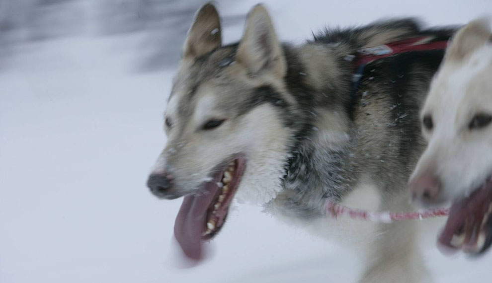
[[[421,111],[428,146],[410,179],[415,202],[453,201],[439,242],[480,253],[492,244],[492,31],[487,19],[451,41]]]

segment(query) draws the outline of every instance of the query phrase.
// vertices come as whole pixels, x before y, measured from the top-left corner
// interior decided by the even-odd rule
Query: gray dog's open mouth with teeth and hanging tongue
[[[203,242],[212,239],[224,225],[245,164],[245,157],[236,157],[219,167],[199,193],[184,198],[174,223],[174,236],[187,257],[200,259]]]

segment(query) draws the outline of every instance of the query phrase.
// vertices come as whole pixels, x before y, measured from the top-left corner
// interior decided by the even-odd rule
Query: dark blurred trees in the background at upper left
[[[225,0],[224,0],[225,1]],[[224,2],[222,1],[222,2]],[[193,15],[204,0],[0,0],[0,70],[15,45],[96,32],[145,33],[142,70],[179,59]],[[219,1],[221,2],[221,1]],[[244,15],[225,17],[226,24]]]

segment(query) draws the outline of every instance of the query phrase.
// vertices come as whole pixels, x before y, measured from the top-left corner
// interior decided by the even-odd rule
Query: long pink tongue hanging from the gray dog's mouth
[[[176,216],[174,236],[190,259],[202,257],[202,233],[206,227],[207,210],[218,190],[214,183],[208,183],[204,193],[186,196]]]

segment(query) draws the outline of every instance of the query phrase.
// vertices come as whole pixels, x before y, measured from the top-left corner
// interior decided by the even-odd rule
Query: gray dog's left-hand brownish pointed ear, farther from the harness
[[[196,59],[222,45],[220,17],[212,3],[204,4],[195,14],[195,19],[184,42],[183,58]]]

